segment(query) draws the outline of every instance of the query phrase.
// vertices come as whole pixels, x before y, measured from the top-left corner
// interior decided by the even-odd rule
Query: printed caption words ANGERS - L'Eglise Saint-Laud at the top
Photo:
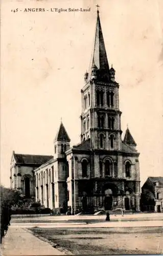
[[[25,8],[24,12],[45,12],[45,11],[50,11],[50,12],[90,12],[90,8],[84,9],[84,8]]]

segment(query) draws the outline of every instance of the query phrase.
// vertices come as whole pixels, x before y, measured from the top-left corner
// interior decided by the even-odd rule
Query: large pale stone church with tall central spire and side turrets
[[[140,210],[139,153],[127,127],[122,140],[119,83],[109,68],[99,10],[90,67],[81,89],[81,142],[70,146],[61,121],[53,156],[13,152],[11,187],[61,213]]]

